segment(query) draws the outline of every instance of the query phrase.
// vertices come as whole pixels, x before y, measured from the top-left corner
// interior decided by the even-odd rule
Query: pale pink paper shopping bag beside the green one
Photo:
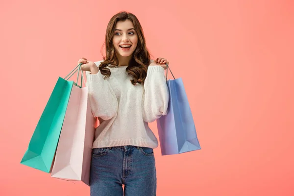
[[[96,118],[88,87],[73,86],[56,150],[51,177],[89,185]]]

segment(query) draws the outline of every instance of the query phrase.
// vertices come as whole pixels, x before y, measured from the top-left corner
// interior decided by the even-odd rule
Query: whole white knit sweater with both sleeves
[[[102,61],[95,62],[97,67]],[[133,85],[126,67],[107,66],[111,72],[107,79],[103,79],[100,71],[97,74],[86,72],[91,110],[100,121],[93,148],[158,147],[148,123],[167,114],[169,92],[164,69],[149,66],[145,84]]]

